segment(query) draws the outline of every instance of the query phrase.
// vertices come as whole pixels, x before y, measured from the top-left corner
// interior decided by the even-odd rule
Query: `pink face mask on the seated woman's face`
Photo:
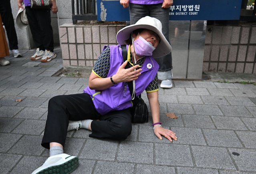
[[[143,37],[139,36],[139,38],[133,42],[135,52],[138,56],[152,56],[155,47],[147,42]]]

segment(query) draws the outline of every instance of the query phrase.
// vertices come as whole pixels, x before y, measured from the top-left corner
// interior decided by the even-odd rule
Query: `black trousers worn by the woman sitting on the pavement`
[[[50,148],[50,142],[65,145],[69,120],[91,119],[93,138],[124,140],[131,134],[130,109],[100,115],[86,93],[55,96],[49,100],[48,115],[41,145]]]

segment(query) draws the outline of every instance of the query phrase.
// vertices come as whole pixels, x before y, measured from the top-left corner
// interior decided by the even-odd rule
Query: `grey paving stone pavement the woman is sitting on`
[[[43,164],[49,153],[40,146],[48,100],[83,92],[88,84],[88,78],[52,76],[62,68],[60,48],[48,63],[31,61],[35,50],[21,51],[23,58],[9,56],[11,64],[0,66],[2,174],[29,174]],[[256,86],[173,80],[173,88],[159,90],[159,102],[162,125],[177,133],[177,141],[157,139],[150,117],[148,123],[133,124],[124,141],[71,131],[65,152],[80,163],[73,173],[256,173]],[[167,118],[167,112],[178,118]]]

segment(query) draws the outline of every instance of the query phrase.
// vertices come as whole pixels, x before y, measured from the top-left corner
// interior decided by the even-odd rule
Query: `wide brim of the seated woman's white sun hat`
[[[129,39],[129,37],[131,36],[131,32],[133,32],[134,30],[140,29],[140,28],[145,28],[147,30],[151,30],[151,31],[155,32],[160,38],[160,42],[159,42],[157,48],[155,48],[155,50],[153,51],[153,54],[152,54],[153,58],[159,58],[159,57],[165,56],[171,52],[171,45],[166,40],[166,38],[162,34],[162,32],[159,31],[154,26],[147,25],[147,24],[133,24],[130,26],[126,26],[125,28],[122,28],[121,30],[119,30],[119,32],[117,32],[117,42],[120,45],[125,44],[125,40]]]

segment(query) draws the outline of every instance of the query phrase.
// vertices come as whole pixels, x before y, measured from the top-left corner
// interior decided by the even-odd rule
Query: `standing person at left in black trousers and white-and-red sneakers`
[[[48,9],[31,8],[30,0],[18,0],[18,8],[23,8],[22,2],[25,5],[28,24],[36,45],[36,52],[30,59],[50,62],[57,56],[53,51],[54,41],[50,17],[50,11],[54,14],[58,12],[56,1],[52,0],[52,7]]]

